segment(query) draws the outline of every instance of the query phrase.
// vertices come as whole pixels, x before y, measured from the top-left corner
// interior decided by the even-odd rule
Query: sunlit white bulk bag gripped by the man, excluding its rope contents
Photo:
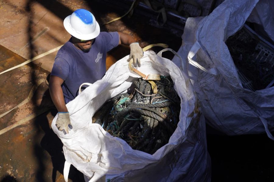
[[[144,74],[170,75],[181,98],[180,121],[169,143],[150,155],[132,150],[124,140],[92,123],[92,116],[105,101],[127,92],[139,78],[128,69],[127,58],[112,65],[101,80],[66,105],[73,126],[68,134],[58,131],[57,116],[54,117],[51,126],[63,143],[65,180],[72,164],[90,181],[101,177],[106,181],[210,181],[205,120],[191,82],[173,62],[153,51],[144,53],[138,70]]]

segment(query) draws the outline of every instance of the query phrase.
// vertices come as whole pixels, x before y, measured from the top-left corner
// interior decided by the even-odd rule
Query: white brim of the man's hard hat
[[[70,33],[70,35],[76,37],[77,39],[80,39],[80,40],[90,40],[90,39],[94,39],[96,38],[99,33],[100,33],[100,26],[98,24],[98,22],[96,21],[96,29],[94,32],[90,33],[90,34],[80,34],[78,32],[76,32],[75,30],[73,30],[70,25],[69,25],[69,18],[70,18],[71,15],[67,16],[65,19],[64,19],[64,27],[66,29],[66,31],[68,33]]]

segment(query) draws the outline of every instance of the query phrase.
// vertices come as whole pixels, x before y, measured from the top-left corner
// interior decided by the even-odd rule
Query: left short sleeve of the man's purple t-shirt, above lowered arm
[[[63,80],[66,80],[69,72],[69,64],[65,59],[60,57],[55,58],[51,76],[58,76]]]

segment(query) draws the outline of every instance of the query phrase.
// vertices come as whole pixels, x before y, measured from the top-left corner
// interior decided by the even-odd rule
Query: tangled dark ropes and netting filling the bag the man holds
[[[134,150],[153,154],[168,143],[179,122],[180,97],[170,76],[151,84],[135,80],[132,93],[122,93],[106,101],[95,123],[112,136],[125,140]],[[96,114],[95,114],[96,115]]]

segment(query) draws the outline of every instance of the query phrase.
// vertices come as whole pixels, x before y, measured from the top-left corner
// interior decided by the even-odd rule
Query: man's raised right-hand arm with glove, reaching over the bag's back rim
[[[143,57],[144,52],[142,48],[140,47],[139,42],[136,42],[131,35],[128,35],[122,32],[118,32],[118,34],[119,34],[119,44],[129,45],[130,47],[130,55],[129,55],[128,61],[133,59],[134,66],[137,67],[137,64],[138,64],[138,66],[140,67],[141,66],[140,59]]]

